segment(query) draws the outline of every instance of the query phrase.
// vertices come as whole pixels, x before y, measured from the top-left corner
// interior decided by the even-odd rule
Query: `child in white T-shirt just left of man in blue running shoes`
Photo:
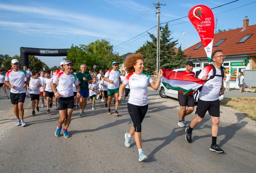
[[[51,71],[45,72],[45,79],[44,79],[44,91],[45,91],[45,97],[46,97],[46,106],[47,106],[47,112],[51,113],[50,108],[53,106],[53,91],[51,88],[53,78],[51,78]]]

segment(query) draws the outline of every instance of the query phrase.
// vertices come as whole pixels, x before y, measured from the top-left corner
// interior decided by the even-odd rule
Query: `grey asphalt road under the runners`
[[[149,90],[148,94],[158,92]],[[27,127],[15,126],[13,117],[9,137],[0,143],[0,172],[255,172],[254,131],[220,122],[217,143],[225,153],[217,154],[209,150],[209,118],[195,127],[193,142],[187,143],[185,128],[177,125],[179,110],[165,103],[165,99],[149,99],[142,123],[143,150],[149,157],[145,162],[138,161],[134,138],[130,148],[124,145],[124,134],[132,125],[126,103],[119,106],[120,116],[113,110],[108,115],[100,100],[94,111],[88,109],[91,103],[87,105],[86,116],[79,117],[75,110],[68,128],[70,138],[64,138],[63,131],[60,137],[54,136],[57,110],[46,114],[44,107],[31,116],[27,104]],[[193,117],[186,117],[186,124]]]

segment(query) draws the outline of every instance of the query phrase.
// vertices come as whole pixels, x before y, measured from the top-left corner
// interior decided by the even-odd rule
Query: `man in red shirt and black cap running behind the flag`
[[[192,72],[193,66],[194,66],[193,62],[188,61],[186,63],[186,70],[181,73],[184,75],[195,77],[195,73]],[[195,100],[194,100],[193,91],[191,91],[185,95],[183,93],[184,93],[184,91],[178,91],[178,100],[179,100],[179,104],[181,107],[181,110],[179,112],[180,121],[179,121],[178,125],[181,127],[186,127],[184,117],[194,111]],[[187,110],[186,110],[186,108],[187,108]]]

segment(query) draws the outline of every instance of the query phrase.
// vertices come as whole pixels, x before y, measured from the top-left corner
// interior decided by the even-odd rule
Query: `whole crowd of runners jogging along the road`
[[[196,110],[196,118],[192,120],[189,128],[185,129],[186,141],[191,143],[191,135],[193,128],[202,121],[205,113],[208,111],[212,119],[212,145],[211,151],[223,153],[224,151],[216,144],[218,123],[219,123],[219,100],[218,96],[224,93],[223,80],[221,79],[221,69],[225,56],[222,50],[213,52],[212,60],[216,68],[216,77],[203,85],[199,94],[198,107]],[[119,102],[125,103],[125,99],[130,92],[127,102],[128,113],[133,122],[130,131],[125,133],[125,146],[130,147],[131,137],[134,139],[139,152],[139,161],[146,160],[148,157],[142,150],[141,123],[148,109],[147,87],[150,85],[157,90],[161,82],[163,70],[159,70],[157,81],[154,82],[150,75],[144,73],[144,59],[142,54],[131,54],[125,60],[124,67],[127,71],[118,70],[119,64],[112,62],[112,69],[99,73],[91,73],[87,71],[86,64],[81,64],[80,70],[73,70],[72,61],[60,62],[60,69],[54,71],[33,71],[27,69],[19,69],[17,59],[11,61],[12,69],[6,72],[4,84],[11,90],[10,98],[13,104],[14,114],[17,118],[16,126],[26,126],[24,121],[23,104],[26,97],[31,98],[32,115],[35,116],[35,110],[39,112],[39,101],[41,97],[41,107],[47,107],[46,113],[51,113],[53,99],[55,100],[54,109],[59,111],[58,126],[55,136],[59,137],[63,128],[63,136],[69,138],[68,127],[71,123],[71,116],[74,109],[80,109],[77,116],[86,114],[86,105],[89,100],[92,102],[92,110],[97,109],[96,100],[100,99],[106,107],[106,113],[111,114],[111,103],[114,99],[113,114],[118,116]],[[192,73],[194,64],[191,61],[186,63],[186,70],[183,74],[194,76]],[[213,69],[205,67],[199,75],[202,80],[207,80],[212,76]],[[0,74],[1,75],[1,74]],[[213,86],[213,87],[212,87]],[[124,94],[125,92],[125,94]],[[185,127],[184,117],[194,110],[193,93],[183,95],[179,93],[179,102],[181,111],[179,113],[179,123],[181,127]],[[6,97],[7,94],[6,94]],[[88,109],[87,109],[88,110]],[[73,115],[75,116],[75,115]]]

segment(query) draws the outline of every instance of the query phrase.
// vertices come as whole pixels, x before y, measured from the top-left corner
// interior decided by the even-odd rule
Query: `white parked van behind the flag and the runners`
[[[194,67],[194,68],[193,68],[193,72],[195,72],[195,75],[196,75],[195,77],[196,77],[196,78],[198,77],[198,75],[200,74],[200,72],[201,72],[202,69],[203,69],[203,68],[200,68],[200,67]],[[177,68],[177,69],[174,69],[173,71],[181,73],[181,72],[183,72],[184,70],[186,70],[186,68]],[[197,92],[198,92],[198,93],[195,93],[195,94],[194,94],[195,102],[197,102],[197,100],[198,100],[199,91],[197,91]],[[176,99],[178,99],[178,91],[176,91],[176,90],[171,90],[171,89],[168,90],[168,89],[162,84],[162,82],[160,83],[159,95],[160,95],[160,97],[162,97],[162,98],[169,98],[169,97],[171,97],[171,98],[176,98]],[[220,96],[220,97],[219,97],[219,100],[222,100],[223,98],[224,98],[224,95]]]

